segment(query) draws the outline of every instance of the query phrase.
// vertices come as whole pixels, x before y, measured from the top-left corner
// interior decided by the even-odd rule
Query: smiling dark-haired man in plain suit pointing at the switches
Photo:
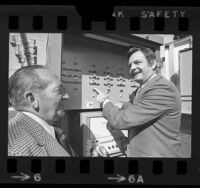
[[[157,74],[156,56],[151,49],[130,48],[128,65],[140,87],[121,109],[95,89],[109,129],[128,130],[128,157],[181,157],[179,91]]]

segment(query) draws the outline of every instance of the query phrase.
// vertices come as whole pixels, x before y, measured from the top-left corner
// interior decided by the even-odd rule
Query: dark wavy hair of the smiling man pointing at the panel
[[[156,55],[153,52],[153,50],[151,50],[150,48],[137,48],[137,47],[131,47],[128,50],[128,53],[127,53],[128,59],[131,57],[132,54],[134,54],[135,52],[138,52],[138,51],[140,51],[144,54],[149,65],[152,65],[153,61],[156,60]]]

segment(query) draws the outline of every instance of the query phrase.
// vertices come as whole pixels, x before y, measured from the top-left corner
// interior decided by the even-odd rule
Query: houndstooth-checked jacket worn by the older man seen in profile
[[[55,128],[53,138],[38,122],[18,112],[8,125],[8,156],[59,156],[73,155],[65,136]],[[65,149],[64,149],[65,148]]]

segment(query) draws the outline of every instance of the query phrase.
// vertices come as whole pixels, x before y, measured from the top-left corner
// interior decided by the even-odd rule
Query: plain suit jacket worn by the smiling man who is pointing
[[[111,102],[103,116],[112,128],[128,129],[128,157],[181,157],[181,100],[175,85],[156,75],[119,110]]]

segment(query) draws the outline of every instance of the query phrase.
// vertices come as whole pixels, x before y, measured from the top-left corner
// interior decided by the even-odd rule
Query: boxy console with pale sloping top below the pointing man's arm
[[[102,112],[82,112],[80,125],[83,129],[83,156],[91,156],[94,148],[102,147],[109,157],[125,157],[127,130],[108,130]]]

